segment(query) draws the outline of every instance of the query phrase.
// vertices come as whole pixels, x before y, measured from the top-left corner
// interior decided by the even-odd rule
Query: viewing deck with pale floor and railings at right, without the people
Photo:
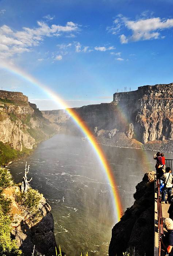
[[[173,167],[173,159],[165,159],[166,167]],[[173,195],[173,189],[172,189]],[[166,198],[167,199],[167,195]],[[154,256],[165,256],[165,252],[161,249],[161,236],[166,229],[163,226],[164,219],[169,217],[168,208],[170,204],[161,204],[160,181],[155,175],[155,209],[154,209]]]

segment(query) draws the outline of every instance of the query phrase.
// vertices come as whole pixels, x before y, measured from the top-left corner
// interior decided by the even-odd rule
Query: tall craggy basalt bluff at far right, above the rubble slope
[[[124,114],[129,113],[128,123],[134,125],[134,137],[140,142],[173,140],[173,83],[115,93],[113,102],[122,108]]]

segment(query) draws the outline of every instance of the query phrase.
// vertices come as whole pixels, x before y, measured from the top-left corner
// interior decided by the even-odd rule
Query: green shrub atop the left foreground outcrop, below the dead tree
[[[22,210],[30,216],[32,222],[37,221],[37,218],[41,216],[39,212],[39,202],[42,196],[42,194],[32,188],[29,188],[27,193],[19,192],[16,195],[16,201],[22,207]]]

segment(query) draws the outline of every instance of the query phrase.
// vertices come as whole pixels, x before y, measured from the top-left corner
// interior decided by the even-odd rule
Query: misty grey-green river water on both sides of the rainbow
[[[155,170],[153,151],[103,146],[114,173],[123,210],[134,202],[135,186],[143,174]],[[165,154],[166,158],[173,158]],[[89,142],[55,135],[38,145],[32,155],[10,165],[21,182],[25,161],[32,188],[52,207],[57,245],[67,256],[108,255],[111,229],[116,223],[112,188]]]

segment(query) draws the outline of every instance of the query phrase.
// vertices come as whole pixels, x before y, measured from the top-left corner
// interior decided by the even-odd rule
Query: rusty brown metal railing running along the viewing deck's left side
[[[157,212],[158,212],[158,256],[161,256],[161,237],[164,234],[164,219],[162,216],[162,204],[160,194],[160,180],[157,178]]]

